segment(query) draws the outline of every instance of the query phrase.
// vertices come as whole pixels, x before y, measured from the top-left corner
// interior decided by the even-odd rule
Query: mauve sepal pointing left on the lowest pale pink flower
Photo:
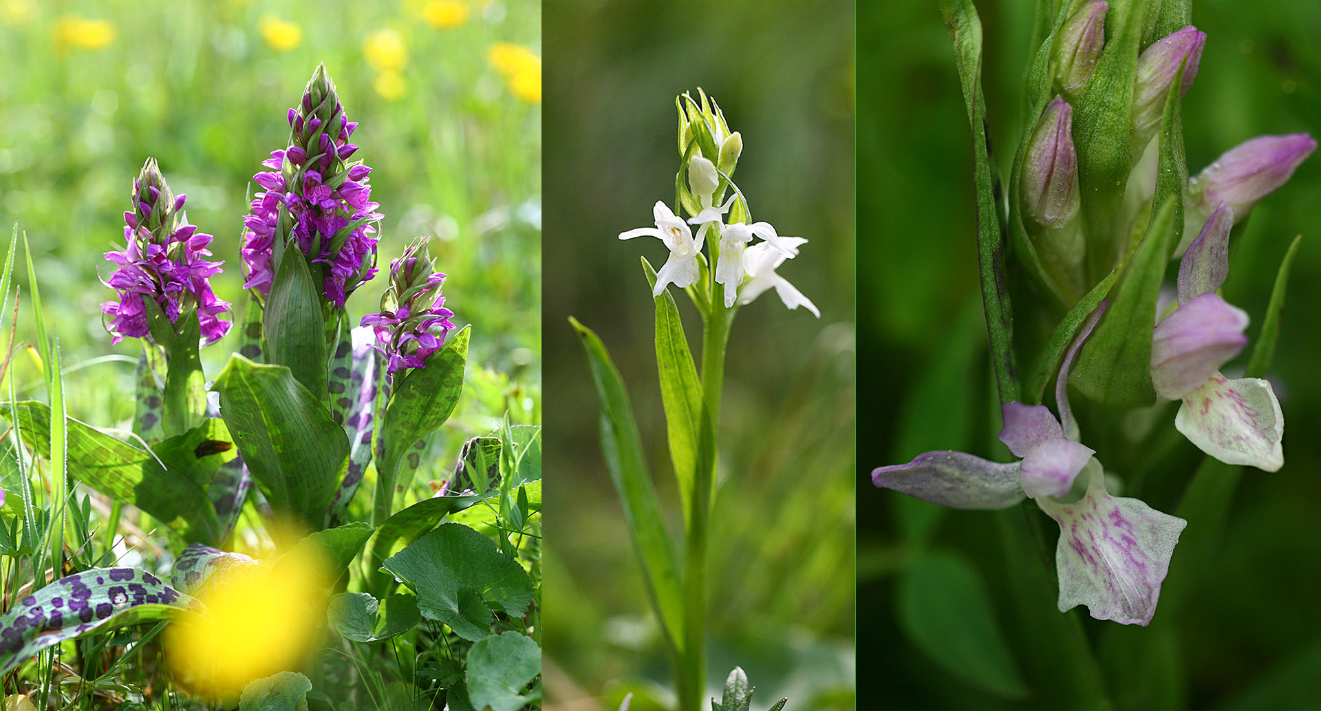
[[[1008,509],[1025,498],[1018,463],[999,464],[954,451],[878,467],[872,470],[872,484],[951,509]]]

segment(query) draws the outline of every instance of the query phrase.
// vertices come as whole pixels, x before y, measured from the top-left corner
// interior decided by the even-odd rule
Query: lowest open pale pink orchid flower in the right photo
[[[1145,625],[1188,522],[1136,498],[1110,496],[1095,452],[1078,443],[1066,390],[1069,371],[1106,305],[1083,324],[1059,366],[1059,419],[1040,404],[1009,402],[1001,408],[1000,440],[1022,461],[997,464],[963,452],[927,452],[909,464],[873,470],[872,482],[960,509],[1007,509],[1032,497],[1059,525],[1059,611],[1086,605],[1098,620]],[[1082,497],[1061,500],[1079,477]]]

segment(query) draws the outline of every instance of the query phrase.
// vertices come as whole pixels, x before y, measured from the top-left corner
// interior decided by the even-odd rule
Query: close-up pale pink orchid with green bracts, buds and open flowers
[[[1229,276],[1235,223],[1288,181],[1316,141],[1304,133],[1259,136],[1189,178],[1180,102],[1197,77],[1206,34],[1189,24],[1188,3],[1075,0],[1062,4],[1034,48],[1026,83],[1034,119],[1009,177],[1008,210],[997,210],[976,66],[979,21],[971,1],[943,3],[942,12],[976,136],[999,439],[1021,460],[927,452],[877,468],[872,481],[958,509],[1032,498],[1059,525],[1059,611],[1086,605],[1099,620],[1147,625],[1188,522],[1111,493],[1123,478],[1102,465],[1108,452],[1083,444],[1069,389],[1090,407],[1086,424],[1110,435],[1095,441],[1136,449],[1168,422],[1161,400],[1180,400],[1174,428],[1202,452],[1277,470],[1284,416],[1259,375],[1273,352],[1280,303],[1272,297],[1262,329],[1268,342],[1248,363],[1251,377],[1227,378],[1221,369],[1247,346],[1250,318],[1218,289]],[[1164,280],[1174,259],[1170,293]],[[1029,325],[1016,338],[1013,307],[1022,304],[1018,322]],[[1034,367],[1020,371],[1025,356]],[[1042,402],[1052,375],[1058,418]],[[1137,432],[1144,422],[1155,424]]]

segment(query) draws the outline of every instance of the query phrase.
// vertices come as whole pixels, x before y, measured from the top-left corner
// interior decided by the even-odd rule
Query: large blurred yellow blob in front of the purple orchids
[[[165,632],[176,678],[198,695],[238,698],[252,679],[297,669],[325,612],[333,580],[314,554],[221,572],[201,601]]]

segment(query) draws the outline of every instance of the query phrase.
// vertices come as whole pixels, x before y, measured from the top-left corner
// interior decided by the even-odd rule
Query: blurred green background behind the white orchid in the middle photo
[[[853,5],[543,5],[546,74],[546,707],[650,708],[670,687],[658,628],[601,460],[596,393],[567,318],[596,329],[629,385],[653,478],[682,531],[639,255],[672,202],[674,98],[705,89],[744,136],[734,176],[781,234],[810,239],[779,274],[822,311],[768,293],[738,312],[728,354],[713,509],[713,689],[734,665],[754,707],[852,704]],[[690,342],[700,318],[682,293]],[[715,692],[715,691],[713,691]],[[719,694],[717,694],[719,695]]]

